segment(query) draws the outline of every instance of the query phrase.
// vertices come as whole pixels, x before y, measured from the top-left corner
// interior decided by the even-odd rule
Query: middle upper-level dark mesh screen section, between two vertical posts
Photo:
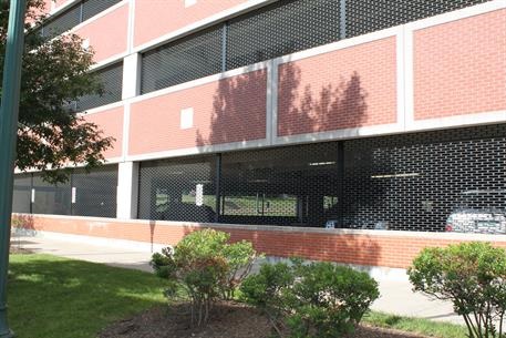
[[[279,1],[227,27],[227,70],[339,40],[339,0]]]

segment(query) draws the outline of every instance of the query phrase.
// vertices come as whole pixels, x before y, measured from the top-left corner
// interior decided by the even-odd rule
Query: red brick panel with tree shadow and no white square
[[[279,66],[278,135],[396,121],[395,38]]]

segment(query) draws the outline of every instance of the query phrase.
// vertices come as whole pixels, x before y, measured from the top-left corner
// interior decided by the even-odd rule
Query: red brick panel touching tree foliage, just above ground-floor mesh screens
[[[113,158],[121,156],[123,140],[123,106],[86,115],[85,120],[87,122],[95,123],[99,126],[99,130],[103,132],[102,136],[112,136],[116,140],[113,142],[112,147],[105,151],[104,157]]]

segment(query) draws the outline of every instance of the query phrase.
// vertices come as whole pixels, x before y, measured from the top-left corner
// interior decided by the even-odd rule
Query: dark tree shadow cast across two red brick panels
[[[345,137],[357,136],[355,127],[368,123],[369,113],[369,93],[359,72],[350,71],[318,85],[306,81],[307,76],[314,75],[303,74],[297,62],[279,65],[275,86],[278,89],[278,135],[306,134],[303,142],[311,142],[317,140],[316,133],[342,130]],[[208,127],[196,131],[195,142],[203,152],[209,145],[266,139],[266,110],[270,109],[266,107],[267,91],[271,90],[266,88],[267,80],[267,69],[262,69],[219,81]],[[364,156],[372,156],[372,153]],[[384,188],[378,180],[372,180],[369,173],[362,176],[360,173],[355,173],[353,180],[368,187],[368,196],[376,201],[382,198]],[[344,213],[350,219],[355,217],[358,209],[348,207]]]

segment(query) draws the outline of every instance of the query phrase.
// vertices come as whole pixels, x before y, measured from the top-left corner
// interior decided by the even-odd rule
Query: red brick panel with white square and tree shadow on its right
[[[128,154],[137,155],[266,137],[267,70],[132,104]],[[180,129],[193,107],[194,126]]]

